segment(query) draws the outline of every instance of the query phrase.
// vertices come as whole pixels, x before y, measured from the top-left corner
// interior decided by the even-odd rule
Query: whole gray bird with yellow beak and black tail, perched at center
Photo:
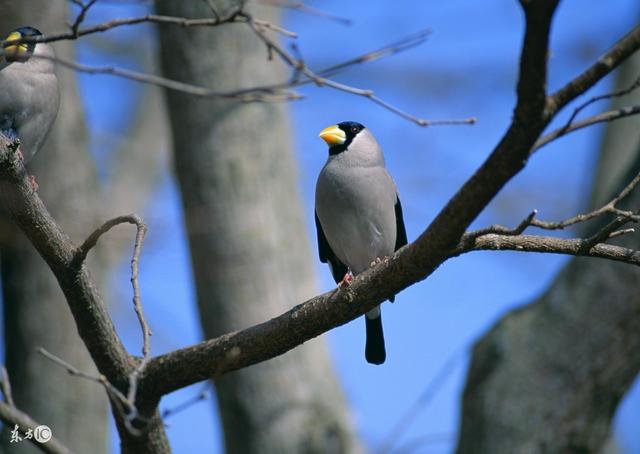
[[[344,121],[319,136],[329,146],[329,156],[316,183],[318,253],[342,287],[349,285],[351,274],[362,273],[406,245],[407,232],[396,185],[371,131]],[[365,358],[382,364],[386,350],[380,306],[366,313],[365,324]]]

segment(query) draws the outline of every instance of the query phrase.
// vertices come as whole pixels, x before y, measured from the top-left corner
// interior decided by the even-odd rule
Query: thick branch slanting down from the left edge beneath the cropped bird
[[[111,386],[125,393],[140,362],[124,349],[95,283],[83,261],[77,258],[84,258],[90,247],[85,243],[84,250],[79,250],[51,218],[42,200],[33,191],[24,166],[15,153],[16,149],[16,144],[0,134],[0,202],[54,273],[69,303],[78,333],[98,370]],[[158,400],[137,402],[133,406],[135,412],[129,413],[117,411],[117,399],[112,398],[111,402],[124,452],[168,451],[159,421],[153,419],[153,424],[149,424],[143,434],[145,436],[137,436],[130,430],[132,421],[123,417],[123,414],[128,416],[133,413],[135,417],[142,415],[151,421],[157,413]]]

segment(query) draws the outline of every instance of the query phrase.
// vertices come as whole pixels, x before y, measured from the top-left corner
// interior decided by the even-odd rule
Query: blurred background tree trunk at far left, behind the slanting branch
[[[32,25],[44,33],[60,31],[66,2],[0,0],[0,34]],[[74,45],[55,45],[59,56],[74,59]],[[39,194],[72,237],[96,225],[98,182],[87,152],[80,95],[75,74],[58,72],[61,105],[47,143],[29,164]],[[5,357],[16,405],[74,452],[107,452],[107,400],[95,383],[69,376],[36,352],[44,347],[83,371],[95,367],[78,337],[75,323],[51,270],[22,232],[0,219]],[[99,269],[94,267],[94,269]],[[6,445],[5,445],[6,446]],[[11,445],[11,453],[39,452],[30,443]]]

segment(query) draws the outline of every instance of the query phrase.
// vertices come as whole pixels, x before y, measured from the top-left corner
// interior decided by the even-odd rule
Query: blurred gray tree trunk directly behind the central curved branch
[[[210,1],[225,16],[233,2]],[[207,2],[159,14],[211,16]],[[249,8],[277,22],[276,9]],[[160,28],[167,77],[231,90],[284,80],[247,26]],[[168,92],[202,325],[207,337],[265,321],[316,290],[286,106]],[[227,452],[357,452],[323,340],[215,383]]]

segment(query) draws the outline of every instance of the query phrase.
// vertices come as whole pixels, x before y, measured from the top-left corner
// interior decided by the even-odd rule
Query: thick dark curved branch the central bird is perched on
[[[195,381],[282,354],[304,340],[361,315],[407,286],[425,279],[456,250],[464,230],[526,164],[531,148],[551,120],[545,111],[548,35],[557,2],[526,2],[526,32],[516,116],[496,149],[440,212],[427,230],[388,261],[358,276],[351,287],[315,297],[291,311],[244,331],[230,333],[154,358],[145,392],[164,394]],[[623,39],[608,54],[611,71],[640,47]],[[622,48],[622,49],[621,49]],[[597,80],[593,80],[595,83]],[[568,244],[563,245],[569,250]],[[619,256],[621,251],[598,250]],[[635,259],[635,258],[634,258]],[[185,362],[186,361],[186,362]],[[190,364],[182,376],[180,364]]]

